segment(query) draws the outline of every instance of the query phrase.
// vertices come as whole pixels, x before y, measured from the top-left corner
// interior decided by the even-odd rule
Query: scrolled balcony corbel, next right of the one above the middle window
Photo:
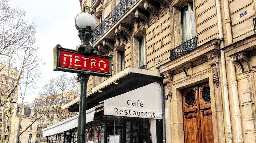
[[[157,22],[158,21],[158,13],[159,13],[159,3],[157,1],[153,0],[147,0],[144,3],[145,10],[148,10],[152,15],[154,15],[154,19]]]

